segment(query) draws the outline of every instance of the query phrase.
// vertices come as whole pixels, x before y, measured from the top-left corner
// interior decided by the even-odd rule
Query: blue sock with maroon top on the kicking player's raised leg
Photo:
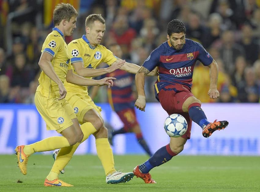
[[[203,129],[210,122],[207,120],[206,115],[200,106],[199,103],[192,103],[189,107],[189,115],[191,120]]]

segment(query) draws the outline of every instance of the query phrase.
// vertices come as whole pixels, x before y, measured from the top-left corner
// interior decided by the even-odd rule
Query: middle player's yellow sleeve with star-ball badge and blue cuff
[[[83,53],[78,42],[70,42],[68,45],[71,64],[83,62]]]

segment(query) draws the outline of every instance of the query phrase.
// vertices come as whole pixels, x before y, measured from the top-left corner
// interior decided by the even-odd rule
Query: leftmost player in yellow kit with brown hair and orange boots
[[[114,78],[104,78],[101,81],[83,78],[72,72],[69,49],[65,36],[72,35],[76,28],[78,13],[70,4],[58,4],[54,9],[53,31],[46,37],[39,66],[42,72],[39,77],[39,86],[35,93],[35,105],[46,122],[48,130],[56,130],[62,136],[43,139],[30,145],[17,146],[18,165],[21,172],[27,174],[28,157],[35,152],[50,151],[62,147],[70,147],[82,142],[83,133],[73,108],[65,99],[67,82],[77,85],[113,85]],[[57,174],[58,176],[58,174]],[[50,173],[44,182],[45,186],[71,187]]]

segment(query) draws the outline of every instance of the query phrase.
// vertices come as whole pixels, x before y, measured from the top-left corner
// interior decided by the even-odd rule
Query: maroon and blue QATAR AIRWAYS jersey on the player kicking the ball
[[[149,71],[158,67],[158,79],[154,85],[156,98],[158,99],[158,92],[168,85],[181,84],[191,89],[193,69],[197,60],[204,66],[209,66],[213,58],[201,44],[191,39],[185,39],[180,50],[174,49],[169,40],[154,49],[143,63],[143,67]]]

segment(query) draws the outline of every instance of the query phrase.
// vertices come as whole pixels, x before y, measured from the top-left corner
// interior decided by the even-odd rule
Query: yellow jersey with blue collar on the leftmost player
[[[71,70],[70,56],[68,45],[64,40],[62,32],[54,27],[53,31],[46,37],[42,53],[46,52],[53,56],[51,61],[54,72],[58,75],[61,82],[65,82],[68,70]],[[58,84],[51,80],[43,71],[39,77],[39,86],[37,90],[45,97],[59,97]]]

